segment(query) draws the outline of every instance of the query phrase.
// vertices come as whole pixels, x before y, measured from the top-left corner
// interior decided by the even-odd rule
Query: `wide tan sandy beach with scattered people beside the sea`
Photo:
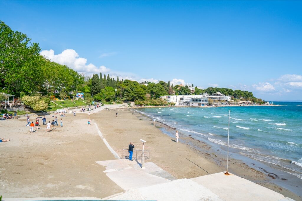
[[[46,116],[47,121],[53,119],[51,116]],[[154,127],[151,119],[131,109],[102,110],[90,116],[92,125],[88,126],[87,114],[78,112],[75,117],[68,114],[63,117],[64,126],[57,126],[50,133],[45,133],[46,126],[29,133],[29,127],[25,127],[26,118],[0,122],[0,137],[11,139],[0,144],[2,196],[104,198],[123,192],[106,176],[104,168],[95,163],[115,158],[98,136],[94,123],[120,157],[129,142],[134,142],[134,149],[141,149],[140,139],[146,140],[145,149],[150,151],[150,160],[146,162],[154,162],[176,178],[193,178],[225,170],[225,159],[211,153],[206,143],[182,133],[176,143],[175,137],[161,131],[164,127],[172,131],[173,128],[160,123]],[[286,197],[301,199],[269,182],[266,174],[240,160],[231,157],[230,164],[230,172],[240,177]]]

